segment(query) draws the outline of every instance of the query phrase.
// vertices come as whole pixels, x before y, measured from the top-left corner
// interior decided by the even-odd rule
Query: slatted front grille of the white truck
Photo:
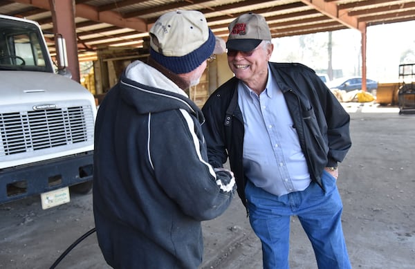
[[[91,106],[0,113],[0,156],[93,139]]]

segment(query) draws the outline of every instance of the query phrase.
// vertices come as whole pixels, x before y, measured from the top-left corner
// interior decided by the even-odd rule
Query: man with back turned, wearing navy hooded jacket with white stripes
[[[197,84],[215,37],[201,12],[162,15],[147,64],[129,66],[100,104],[95,124],[93,210],[113,268],[197,268],[201,221],[230,204],[232,172],[208,163]]]

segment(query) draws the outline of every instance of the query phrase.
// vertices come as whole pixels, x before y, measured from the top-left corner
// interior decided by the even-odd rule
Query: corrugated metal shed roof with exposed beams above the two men
[[[223,39],[230,21],[246,12],[266,17],[273,37],[345,28],[365,33],[370,26],[415,19],[414,0],[75,0],[80,60],[98,48],[142,46],[156,19],[178,9],[203,12],[214,34]],[[49,0],[3,0],[0,14],[33,19],[42,30],[53,31]]]

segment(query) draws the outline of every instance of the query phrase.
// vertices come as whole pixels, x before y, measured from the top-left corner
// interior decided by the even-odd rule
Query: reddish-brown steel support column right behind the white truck
[[[72,79],[80,82],[80,63],[77,54],[75,28],[75,0],[49,0],[54,33],[62,34],[68,53],[68,70]]]

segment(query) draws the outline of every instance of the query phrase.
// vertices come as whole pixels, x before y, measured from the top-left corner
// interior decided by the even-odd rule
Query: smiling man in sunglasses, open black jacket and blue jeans
[[[311,68],[269,62],[264,17],[241,15],[229,31],[234,77],[202,109],[210,164],[222,167],[229,158],[264,268],[289,268],[291,216],[308,235],[318,268],[351,268],[336,187],[338,163],[351,147],[349,115]]]

